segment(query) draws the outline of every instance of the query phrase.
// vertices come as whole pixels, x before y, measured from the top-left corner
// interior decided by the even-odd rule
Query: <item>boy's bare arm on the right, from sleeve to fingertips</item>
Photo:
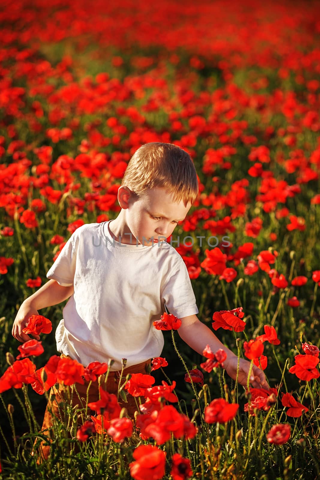
[[[225,347],[223,343],[214,335],[214,333],[203,324],[197,315],[190,315],[181,318],[181,326],[178,329],[178,334],[193,350],[202,355],[206,345],[209,345],[213,353],[219,348],[222,348],[227,358],[224,361],[224,368],[227,374],[233,379],[237,378],[237,364],[238,357],[229,348]],[[248,360],[239,360],[238,383],[247,387],[248,375],[250,369],[250,362]],[[254,388],[265,388],[269,390],[265,375],[260,368],[253,365],[249,384]]]

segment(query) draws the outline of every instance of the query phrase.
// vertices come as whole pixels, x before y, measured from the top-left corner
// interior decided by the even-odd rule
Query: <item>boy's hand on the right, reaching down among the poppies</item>
[[[236,380],[238,357],[236,355],[231,356],[224,363],[225,363],[225,370],[227,374],[233,380]],[[250,366],[251,364],[248,360],[244,360],[244,359],[239,360],[238,383],[243,385],[246,388],[248,385],[248,375],[249,375]],[[264,373],[256,365],[252,365],[249,384],[253,388],[265,388],[266,390],[269,390],[269,385],[267,383]]]

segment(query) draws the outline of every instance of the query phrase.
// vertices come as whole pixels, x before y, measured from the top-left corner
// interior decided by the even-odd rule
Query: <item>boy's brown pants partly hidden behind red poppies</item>
[[[64,355],[63,353],[61,354],[61,358],[71,358],[69,355]],[[126,375],[128,373],[147,373],[147,367],[150,364],[151,360],[147,360],[145,362],[139,363],[138,365],[132,365],[132,367],[125,368],[123,370],[122,374],[122,381],[121,384],[125,381]],[[119,379],[120,379],[120,373],[121,371],[116,371],[116,372],[109,372],[108,377],[107,377],[107,382],[105,382],[105,375],[101,375],[100,379],[100,386],[106,390],[110,394],[115,394],[118,395],[118,386],[119,386]],[[82,404],[80,402],[79,396],[75,392],[75,390],[72,390],[71,393],[71,387],[70,389],[70,396],[71,396],[71,401],[70,405],[72,407],[75,407],[78,405],[78,408],[85,408],[86,406],[86,399],[87,399],[87,388],[90,382],[84,380],[84,384],[75,384],[76,390],[82,399]],[[61,402],[65,402],[66,400],[69,402],[68,396],[65,394],[66,387],[63,387],[63,385],[59,385],[59,388],[57,389],[55,386],[51,387],[49,391],[49,400],[47,403],[47,408],[45,411],[45,416],[42,424],[42,429],[41,433],[45,434],[48,436],[48,432],[50,427],[52,428],[53,426],[53,417],[55,416],[58,420],[63,421],[63,403],[59,407],[59,404]],[[51,400],[51,396],[55,396],[53,400]],[[89,388],[89,395],[88,395],[88,403],[90,402],[95,402],[99,399],[99,383],[98,381],[92,382]],[[138,402],[139,404],[139,402]],[[119,405],[121,407],[125,407],[128,410],[128,415],[130,418],[134,418],[134,412],[137,410],[137,404],[136,404],[136,399],[127,394],[127,402],[124,402],[119,396]],[[87,415],[94,415],[95,412],[90,410],[88,408],[87,410]],[[60,415],[61,414],[61,415]],[[84,419],[84,421],[87,419]],[[83,423],[81,415],[78,418],[78,425],[81,426]],[[40,457],[41,459],[46,459],[50,455],[50,445],[46,444],[44,440],[41,442],[39,450],[40,450]],[[36,442],[35,442],[36,444]],[[41,460],[38,459],[37,463],[41,463]]]

